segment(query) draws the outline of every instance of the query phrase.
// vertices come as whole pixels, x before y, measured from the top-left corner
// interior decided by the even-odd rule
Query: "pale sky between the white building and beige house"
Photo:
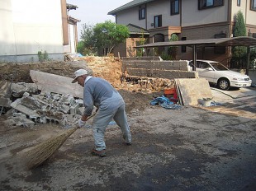
[[[81,35],[82,24],[95,25],[107,20],[115,21],[115,16],[107,12],[120,7],[132,0],[66,0],[67,3],[78,6],[77,10],[70,10],[69,16],[80,20],[78,22],[78,38]]]

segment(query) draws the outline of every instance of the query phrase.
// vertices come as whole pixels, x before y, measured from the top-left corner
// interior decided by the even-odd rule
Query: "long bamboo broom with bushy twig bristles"
[[[94,116],[95,114],[92,114],[90,117],[88,117],[88,119],[91,119],[92,116]],[[47,159],[50,158],[50,156],[55,153],[55,151],[59,149],[59,147],[63,145],[67,138],[72,135],[77,129],[78,127],[70,128],[68,131],[58,136],[50,137],[45,142],[41,142],[30,151],[27,151],[25,156],[26,167],[28,169],[34,169],[37,166],[43,164]]]

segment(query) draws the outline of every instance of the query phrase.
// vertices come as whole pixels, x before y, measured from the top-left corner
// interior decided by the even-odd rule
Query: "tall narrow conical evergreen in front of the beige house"
[[[235,37],[246,36],[246,26],[244,23],[244,15],[241,11],[237,12],[237,14],[235,15],[235,26],[233,30],[233,35]],[[241,60],[244,60],[244,58],[246,58],[246,47],[234,46],[232,48],[231,62],[238,63],[238,65],[240,65]]]

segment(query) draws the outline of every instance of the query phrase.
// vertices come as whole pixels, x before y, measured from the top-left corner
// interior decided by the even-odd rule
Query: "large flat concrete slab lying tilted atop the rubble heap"
[[[40,91],[55,92],[58,94],[73,95],[83,98],[83,87],[77,83],[71,83],[73,78],[31,70],[31,79]]]

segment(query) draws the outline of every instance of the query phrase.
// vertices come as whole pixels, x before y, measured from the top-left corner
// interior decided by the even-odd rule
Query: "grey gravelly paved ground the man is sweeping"
[[[255,190],[256,96],[212,91],[221,105],[143,110],[139,95],[130,93],[136,95],[128,114],[133,145],[109,125],[103,158],[90,155],[92,132],[83,128],[44,165],[26,170],[24,149],[64,130],[1,129],[8,142],[0,150],[0,190]]]

